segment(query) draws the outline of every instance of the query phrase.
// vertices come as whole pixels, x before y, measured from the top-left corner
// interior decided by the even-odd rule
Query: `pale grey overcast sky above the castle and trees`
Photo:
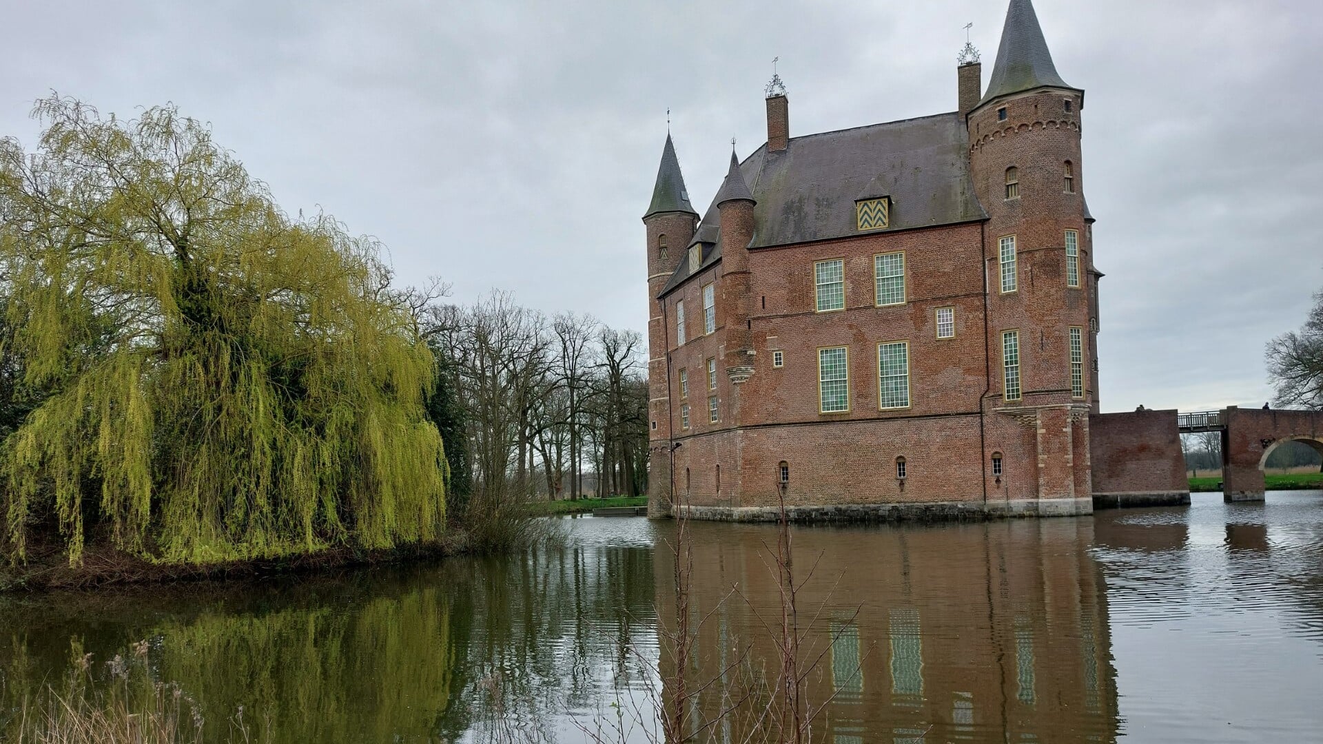
[[[951,111],[962,26],[986,85],[1005,7],[0,0],[0,135],[32,147],[52,90],[120,115],[172,101],[287,212],[381,238],[401,283],[644,331],[667,109],[703,210],[730,138],[741,158],[766,139],[773,57],[792,136]],[[1262,405],[1265,342],[1323,287],[1323,3],[1036,8],[1088,90],[1103,410]]]

